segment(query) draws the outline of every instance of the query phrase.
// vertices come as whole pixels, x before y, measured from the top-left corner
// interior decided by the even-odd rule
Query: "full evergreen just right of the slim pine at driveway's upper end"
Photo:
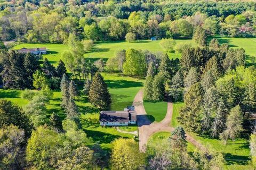
[[[163,101],[165,95],[164,76],[161,73],[155,75],[153,80],[153,100]]]

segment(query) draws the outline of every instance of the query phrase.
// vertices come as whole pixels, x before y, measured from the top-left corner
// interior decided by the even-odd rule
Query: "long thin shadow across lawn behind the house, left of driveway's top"
[[[127,80],[105,80],[109,88],[122,89],[130,87],[142,87],[142,82],[127,81]]]

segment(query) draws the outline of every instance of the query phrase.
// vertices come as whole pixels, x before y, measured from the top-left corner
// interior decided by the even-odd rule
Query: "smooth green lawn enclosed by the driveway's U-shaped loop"
[[[162,101],[162,102],[149,102],[149,101],[144,101],[143,105],[145,107],[145,110],[147,114],[149,115],[149,119],[154,122],[160,122],[164,119],[166,112],[167,112],[167,103]]]

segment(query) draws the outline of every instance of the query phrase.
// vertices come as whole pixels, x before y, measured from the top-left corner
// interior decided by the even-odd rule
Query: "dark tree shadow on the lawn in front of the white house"
[[[99,142],[99,144],[111,143],[115,139],[118,139],[118,138],[126,138],[127,139],[127,137],[122,137],[120,135],[113,135],[113,134],[100,132],[100,131],[84,129],[84,132],[87,134],[87,137],[91,137],[94,142]]]

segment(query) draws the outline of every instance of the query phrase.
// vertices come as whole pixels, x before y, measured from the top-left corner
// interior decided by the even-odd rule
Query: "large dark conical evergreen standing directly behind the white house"
[[[94,107],[100,109],[108,109],[111,103],[107,84],[104,82],[99,72],[94,75],[89,91],[89,99]]]

